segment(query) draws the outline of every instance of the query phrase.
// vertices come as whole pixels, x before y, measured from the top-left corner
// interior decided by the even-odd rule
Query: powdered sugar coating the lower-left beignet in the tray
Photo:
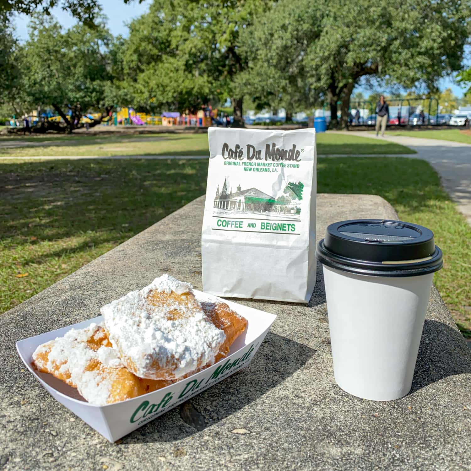
[[[93,323],[85,329],[71,329],[64,337],[40,345],[32,357],[41,370],[58,371],[68,378],[66,382],[75,386],[90,404],[104,406],[110,394],[111,378],[103,374],[100,368],[85,370],[93,360],[111,368],[122,368],[123,365],[113,348],[101,346],[93,350],[87,344],[100,327]],[[43,361],[45,354],[47,362]]]

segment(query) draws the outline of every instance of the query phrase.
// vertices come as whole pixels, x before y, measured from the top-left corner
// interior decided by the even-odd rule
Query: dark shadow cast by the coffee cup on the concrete
[[[471,373],[471,351],[461,333],[426,319],[409,394],[455,374]]]

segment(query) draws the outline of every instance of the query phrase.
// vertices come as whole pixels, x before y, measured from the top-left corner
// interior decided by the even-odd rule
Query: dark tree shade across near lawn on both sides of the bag
[[[129,238],[202,195],[207,165],[125,159],[0,163],[0,236],[15,237],[15,244],[30,244],[31,236],[58,240],[87,232],[101,233],[90,234],[91,244]],[[319,193],[378,194],[414,211],[448,200],[436,172],[416,159],[319,159],[317,180]],[[86,248],[61,248],[48,257]]]

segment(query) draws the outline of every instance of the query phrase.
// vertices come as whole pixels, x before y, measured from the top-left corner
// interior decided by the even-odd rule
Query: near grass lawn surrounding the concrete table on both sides
[[[205,159],[0,162],[0,312],[202,195],[207,166]],[[430,227],[445,254],[435,283],[471,336],[471,228],[430,165],[325,157],[317,182],[322,193],[381,195],[400,219]]]

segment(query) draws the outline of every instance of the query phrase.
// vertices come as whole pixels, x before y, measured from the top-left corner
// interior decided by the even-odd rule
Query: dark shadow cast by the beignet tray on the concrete
[[[315,353],[315,349],[268,332],[247,368],[134,430],[122,439],[123,445],[189,437],[250,405],[301,369]]]

